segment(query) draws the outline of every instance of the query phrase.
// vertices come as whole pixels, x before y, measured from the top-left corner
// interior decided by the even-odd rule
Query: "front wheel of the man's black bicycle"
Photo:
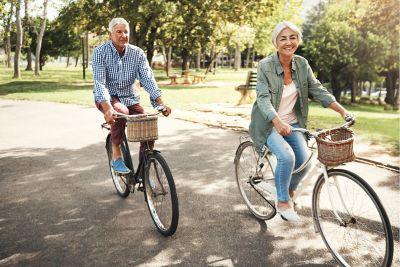
[[[144,185],[147,206],[157,230],[165,236],[173,235],[179,220],[178,196],[171,171],[159,153],[148,156]]]

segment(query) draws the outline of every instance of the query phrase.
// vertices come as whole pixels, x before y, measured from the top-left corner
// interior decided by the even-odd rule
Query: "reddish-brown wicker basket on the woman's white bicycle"
[[[317,135],[318,160],[327,166],[337,166],[355,159],[353,131],[337,128]]]

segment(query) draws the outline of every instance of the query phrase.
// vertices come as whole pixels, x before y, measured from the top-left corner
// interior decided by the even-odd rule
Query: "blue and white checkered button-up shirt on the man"
[[[136,79],[150,94],[153,106],[157,97],[161,96],[153,71],[139,47],[127,45],[121,57],[112,42],[108,41],[94,50],[92,67],[96,102],[110,101],[111,96],[117,96],[125,106],[139,103],[140,96],[134,86]]]

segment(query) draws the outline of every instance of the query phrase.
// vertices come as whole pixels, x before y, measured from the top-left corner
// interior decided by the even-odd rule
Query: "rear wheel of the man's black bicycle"
[[[112,167],[113,157],[112,157],[111,134],[108,134],[106,140],[107,140],[106,141],[106,150],[107,150],[107,156],[108,156],[108,166],[110,169],[111,179],[114,183],[114,187],[117,190],[118,195],[123,198],[126,198],[130,193],[129,187],[127,185],[127,179],[128,179],[129,174],[121,175],[114,171],[114,168]],[[123,158],[124,162],[127,163],[128,162],[128,160],[126,159],[127,153],[130,153],[130,152],[129,152],[129,148],[128,149],[126,148],[126,143],[124,143],[124,142],[121,144],[121,151],[122,151],[122,158]]]

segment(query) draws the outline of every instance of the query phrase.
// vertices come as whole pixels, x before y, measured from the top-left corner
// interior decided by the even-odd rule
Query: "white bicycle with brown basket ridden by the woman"
[[[393,234],[379,197],[360,176],[337,168],[354,160],[353,133],[349,129],[354,122],[353,118],[338,128],[316,133],[293,129],[314,139],[309,158],[293,171],[300,172],[311,164],[293,203],[318,174],[312,193],[314,229],[333,258],[341,266],[391,266]],[[274,155],[266,146],[257,153],[252,140],[241,137],[234,164],[239,192],[249,210],[261,220],[272,219],[276,215]]]

